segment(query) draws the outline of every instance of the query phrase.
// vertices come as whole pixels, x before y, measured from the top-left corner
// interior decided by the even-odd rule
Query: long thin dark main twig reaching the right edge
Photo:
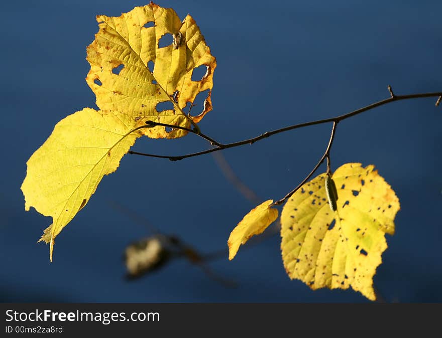
[[[372,103],[368,106],[365,106],[363,108],[354,110],[352,112],[343,114],[343,115],[339,115],[336,117],[331,117],[331,118],[325,118],[322,120],[316,120],[316,121],[310,121],[310,122],[304,122],[304,123],[299,123],[299,124],[294,124],[288,127],[284,127],[284,128],[280,128],[280,129],[276,129],[276,130],[272,130],[272,131],[268,131],[265,132],[257,137],[253,137],[253,138],[249,138],[243,141],[239,141],[239,142],[234,142],[234,143],[228,143],[228,144],[221,144],[221,143],[214,143],[214,145],[216,145],[216,148],[211,148],[211,149],[207,149],[207,150],[203,150],[203,151],[198,151],[198,152],[194,152],[194,153],[190,153],[190,154],[186,154],[186,155],[180,155],[180,156],[165,156],[165,155],[156,155],[156,154],[148,154],[148,153],[144,153],[144,152],[138,152],[138,151],[129,151],[130,154],[135,154],[135,155],[141,155],[141,156],[149,156],[149,157],[159,157],[159,158],[168,158],[171,161],[177,161],[177,160],[181,160],[183,158],[188,158],[188,157],[194,157],[194,156],[199,156],[199,155],[203,155],[203,154],[207,154],[213,151],[218,151],[218,150],[222,150],[222,149],[228,149],[228,148],[233,148],[233,147],[237,147],[240,145],[244,145],[244,144],[253,144],[263,138],[267,138],[270,137],[272,135],[284,132],[284,131],[288,131],[288,130],[293,130],[293,129],[297,129],[297,128],[302,128],[302,127],[307,127],[310,125],[316,125],[316,124],[322,124],[322,123],[327,123],[327,122],[340,122],[342,120],[345,120],[347,118],[350,118],[352,116],[361,114],[365,111],[374,109],[376,107],[382,106],[384,104],[387,103],[391,103],[393,101],[401,101],[401,100],[408,100],[408,99],[416,99],[416,98],[422,98],[422,97],[439,97],[442,96],[442,92],[437,92],[437,93],[419,93],[419,94],[408,94],[408,95],[394,95],[393,97],[389,97],[388,99],[385,100],[381,100],[375,103]],[[173,125],[165,125],[165,126],[170,126],[170,127],[176,127]],[[148,126],[146,126],[148,127]],[[137,129],[140,129],[142,127],[139,127]],[[192,131],[194,132],[194,131]],[[198,134],[197,132],[194,132],[197,135],[201,135],[200,133]],[[205,135],[204,135],[205,136]],[[207,139],[207,138],[206,138]]]

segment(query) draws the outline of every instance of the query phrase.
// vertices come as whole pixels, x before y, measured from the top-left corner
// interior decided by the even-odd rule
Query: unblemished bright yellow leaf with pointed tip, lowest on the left
[[[104,175],[117,170],[120,160],[141,131],[130,117],[90,108],[55,125],[45,143],[29,158],[22,184],[25,209],[34,207],[53,223],[40,239],[50,243],[89,201]]]

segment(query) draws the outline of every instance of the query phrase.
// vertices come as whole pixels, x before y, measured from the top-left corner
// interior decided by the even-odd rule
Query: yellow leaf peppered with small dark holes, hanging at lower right
[[[373,165],[347,163],[333,174],[337,210],[327,203],[326,174],[293,194],[281,213],[281,250],[291,279],[312,289],[350,286],[376,299],[373,276],[394,233],[399,200]]]

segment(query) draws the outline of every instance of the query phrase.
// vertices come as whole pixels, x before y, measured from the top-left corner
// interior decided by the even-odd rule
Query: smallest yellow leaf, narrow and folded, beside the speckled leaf
[[[273,200],[261,203],[252,209],[232,230],[227,242],[229,260],[235,258],[241,244],[246,244],[250,237],[261,234],[278,218],[278,209],[270,208]]]

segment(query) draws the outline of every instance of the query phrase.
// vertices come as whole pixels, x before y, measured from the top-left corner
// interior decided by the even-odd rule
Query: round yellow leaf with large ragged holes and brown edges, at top
[[[196,126],[211,110],[216,62],[192,17],[187,15],[181,22],[173,9],[151,3],[120,17],[97,16],[97,21],[99,31],[87,48],[90,71],[86,81],[100,109],[120,111],[130,116],[135,126],[149,119],[187,128]],[[160,40],[167,36],[173,42],[160,48]],[[200,66],[206,68],[205,75],[192,81],[193,70]],[[191,116],[185,109],[191,106],[187,103],[205,90],[204,106],[193,108],[192,113],[199,110]],[[169,102],[173,109],[158,111],[161,102]],[[163,126],[143,132],[153,138],[187,133],[181,129],[167,132]]]

